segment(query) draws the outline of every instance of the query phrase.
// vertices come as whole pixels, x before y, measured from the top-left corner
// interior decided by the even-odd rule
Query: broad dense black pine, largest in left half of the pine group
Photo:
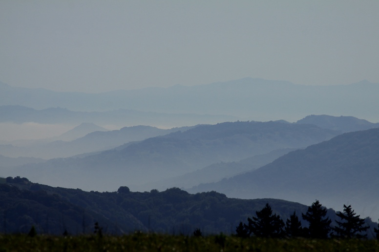
[[[279,215],[274,214],[269,204],[259,212],[256,217],[248,218],[249,234],[253,233],[259,237],[282,237],[284,236],[284,222]]]

